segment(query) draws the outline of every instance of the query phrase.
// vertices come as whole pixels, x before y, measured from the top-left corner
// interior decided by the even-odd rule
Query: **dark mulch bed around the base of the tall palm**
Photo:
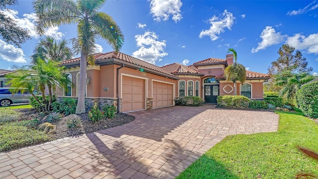
[[[45,115],[35,111],[34,109],[14,109],[17,112],[20,112],[22,120],[30,120],[30,119],[38,119],[42,122],[46,122],[43,120]],[[76,115],[76,114],[71,114]],[[70,116],[71,116],[70,115]],[[66,116],[59,119],[57,122],[53,122],[53,125],[56,125],[56,133],[49,134],[53,140],[62,139],[64,137],[71,136],[79,136],[82,134],[92,133],[95,131],[116,127],[119,125],[127,124],[133,120],[135,120],[135,116],[128,115],[125,113],[115,114],[115,117],[112,119],[104,118],[97,122],[92,122],[88,118],[88,114],[79,114],[81,117],[81,123],[77,128],[68,128],[66,124],[66,120],[70,117]]]

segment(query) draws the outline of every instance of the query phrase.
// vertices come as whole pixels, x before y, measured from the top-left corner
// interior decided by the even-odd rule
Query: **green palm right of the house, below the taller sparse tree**
[[[275,76],[274,85],[281,87],[279,91],[280,96],[285,96],[288,101],[295,98],[295,94],[305,83],[315,79],[314,76],[306,73],[293,73],[291,71],[284,71]]]

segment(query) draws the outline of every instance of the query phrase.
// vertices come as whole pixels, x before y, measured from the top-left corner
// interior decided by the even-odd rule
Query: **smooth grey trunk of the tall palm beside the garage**
[[[79,99],[76,107],[77,114],[85,113],[86,66],[87,54],[81,52],[79,62]]]

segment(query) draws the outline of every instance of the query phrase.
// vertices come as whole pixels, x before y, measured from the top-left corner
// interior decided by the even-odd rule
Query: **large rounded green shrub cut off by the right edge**
[[[296,99],[306,116],[318,118],[318,82],[304,85],[296,92]]]

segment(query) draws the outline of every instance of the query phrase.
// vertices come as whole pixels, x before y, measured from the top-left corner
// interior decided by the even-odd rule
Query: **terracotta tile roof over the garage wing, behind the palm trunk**
[[[134,64],[134,65],[138,65],[140,67],[148,68],[148,69],[151,69],[151,70],[154,70],[154,71],[166,74],[166,75],[170,75],[170,76],[176,77],[176,76],[172,75],[170,72],[166,71],[165,69],[162,69],[162,68],[160,68],[160,67],[158,67],[156,65],[150,64],[148,62],[145,62],[143,60],[137,59],[135,57],[132,57],[130,55],[127,55],[127,54],[124,54],[124,53],[121,53],[121,52],[117,52],[117,53],[116,52],[108,52],[108,53],[104,53],[104,54],[103,53],[97,53],[97,54],[94,54],[94,56],[96,58],[96,62],[98,62],[98,60],[115,58],[115,59],[118,59],[118,60],[122,60],[124,62],[128,62],[128,63]],[[63,64],[73,63],[73,62],[79,62],[79,60],[80,60],[80,58],[75,58],[75,59],[64,61],[64,62],[62,62],[60,64],[63,65]]]

